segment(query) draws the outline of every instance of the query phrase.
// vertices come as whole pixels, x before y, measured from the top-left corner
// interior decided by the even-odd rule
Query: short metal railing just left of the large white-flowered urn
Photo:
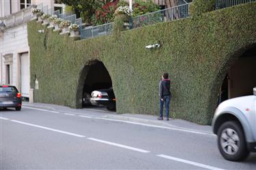
[[[109,35],[111,33],[113,33],[113,22],[96,27],[87,27],[85,29],[81,29],[81,39],[98,37],[100,35]]]

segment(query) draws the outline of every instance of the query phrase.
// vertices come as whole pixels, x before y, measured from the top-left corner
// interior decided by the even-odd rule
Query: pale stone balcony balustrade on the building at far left
[[[0,18],[0,20],[5,23],[6,29],[9,29],[11,27],[16,27],[19,24],[28,22],[33,18],[33,14],[32,14],[33,7],[35,6],[31,5],[23,10],[20,10],[19,12],[11,14],[10,16],[2,17]]]

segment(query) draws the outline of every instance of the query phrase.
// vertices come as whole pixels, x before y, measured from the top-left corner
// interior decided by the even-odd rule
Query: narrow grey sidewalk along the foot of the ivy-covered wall
[[[24,107],[35,107],[38,109],[46,109],[50,111],[60,112],[60,113],[70,113],[79,114],[85,116],[93,116],[98,118],[104,118],[109,120],[119,120],[121,122],[133,122],[134,124],[144,124],[152,126],[160,126],[162,128],[174,128],[183,129],[189,131],[198,131],[201,133],[212,134],[212,126],[199,125],[193,122],[188,122],[186,120],[180,120],[172,118],[167,120],[157,120],[158,116],[146,115],[146,114],[116,114],[115,112],[109,112],[104,107],[87,107],[83,109],[72,109],[70,107],[62,105],[53,105],[46,103],[27,103],[23,102]]]

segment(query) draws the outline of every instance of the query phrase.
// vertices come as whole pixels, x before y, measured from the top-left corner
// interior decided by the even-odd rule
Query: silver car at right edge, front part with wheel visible
[[[212,120],[218,150],[227,160],[239,161],[256,152],[256,87],[253,95],[224,101]]]

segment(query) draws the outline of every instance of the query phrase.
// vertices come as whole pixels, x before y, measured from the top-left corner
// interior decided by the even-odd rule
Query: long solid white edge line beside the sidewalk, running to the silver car
[[[110,120],[110,121],[114,121],[114,122],[126,122],[126,123],[129,123],[129,124],[138,124],[138,125],[143,125],[143,126],[156,127],[156,128],[160,128],[160,129],[169,129],[169,130],[173,130],[173,131],[183,131],[183,132],[188,132],[188,133],[196,133],[196,134],[200,134],[200,135],[215,136],[213,133],[204,133],[204,132],[192,131],[192,130],[188,130],[188,129],[178,129],[178,128],[175,128],[175,127],[167,127],[167,126],[158,126],[158,125],[153,125],[153,124],[130,122],[130,121],[127,121],[127,120],[114,120],[114,119],[110,119],[110,118],[96,118],[96,119]]]

